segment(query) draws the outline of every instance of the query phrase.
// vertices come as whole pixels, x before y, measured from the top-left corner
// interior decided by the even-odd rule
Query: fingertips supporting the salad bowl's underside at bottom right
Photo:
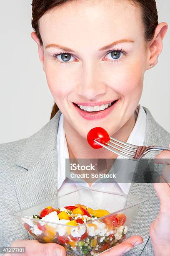
[[[102,253],[101,256],[122,256],[124,253],[130,251],[134,246],[141,243],[143,243],[143,238],[141,236],[132,236],[119,245],[114,246],[109,251]]]

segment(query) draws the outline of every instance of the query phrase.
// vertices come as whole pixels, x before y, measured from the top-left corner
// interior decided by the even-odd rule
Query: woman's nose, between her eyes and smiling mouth
[[[107,85],[103,81],[100,67],[96,64],[82,64],[80,79],[77,84],[77,94],[88,100],[95,100],[105,94]]]

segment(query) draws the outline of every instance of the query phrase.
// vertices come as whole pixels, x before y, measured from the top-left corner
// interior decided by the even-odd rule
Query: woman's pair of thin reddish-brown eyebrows
[[[133,40],[130,40],[130,39],[121,39],[121,40],[118,40],[118,41],[115,41],[111,44],[107,44],[106,46],[100,48],[98,51],[104,51],[104,50],[107,50],[117,44],[120,44],[120,43],[134,43]],[[45,46],[45,49],[47,48],[50,48],[50,47],[55,47],[55,48],[58,48],[58,49],[61,49],[63,51],[72,51],[72,52],[75,52],[73,51],[72,49],[68,48],[68,47],[65,47],[65,46],[62,46],[62,45],[59,45],[59,44],[48,44]]]

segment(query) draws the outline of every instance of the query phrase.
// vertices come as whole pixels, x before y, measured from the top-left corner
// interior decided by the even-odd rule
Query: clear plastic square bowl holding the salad
[[[121,243],[141,205],[147,200],[125,194],[79,189],[9,214],[18,218],[40,243],[61,244],[65,247],[67,256],[90,256],[99,255]],[[49,205],[60,208],[75,204],[86,205],[94,210],[105,209],[110,214],[77,226],[33,218],[33,215],[39,215]],[[120,214],[124,214],[125,218]]]

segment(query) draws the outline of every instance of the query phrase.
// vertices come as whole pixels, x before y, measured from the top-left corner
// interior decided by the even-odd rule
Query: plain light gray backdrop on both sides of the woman
[[[32,0],[1,1],[0,143],[30,137],[50,120],[53,97],[30,37]],[[170,26],[170,1],[158,0],[159,22]],[[170,132],[170,28],[156,67],[145,73],[140,104]]]

